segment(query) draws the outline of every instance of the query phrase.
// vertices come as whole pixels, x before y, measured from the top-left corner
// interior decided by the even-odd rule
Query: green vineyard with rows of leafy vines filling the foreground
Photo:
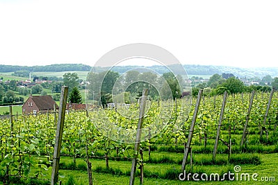
[[[199,107],[196,106],[198,100]],[[193,173],[199,178],[208,174],[208,181],[201,179],[203,184],[211,184],[211,173],[220,175],[220,184],[238,184],[224,175],[229,172],[258,173],[258,181],[268,177],[269,183],[275,184],[278,93],[231,94],[225,104],[224,96],[199,96],[198,100],[149,102],[136,159],[135,184],[186,184],[188,180],[197,184]],[[163,109],[159,111],[162,104],[174,105],[171,114],[166,115]],[[188,109],[183,107],[185,105]],[[138,104],[129,109],[138,109]],[[58,177],[61,184],[89,184],[90,165],[93,184],[129,184],[134,143],[122,143],[119,138],[129,140],[134,133],[118,131],[119,138],[113,140],[109,136],[112,131],[105,123],[111,121],[124,129],[136,130],[138,119],[126,118],[120,111],[120,107],[96,108],[88,115],[86,112],[65,115]],[[167,125],[159,125],[162,123],[156,121],[159,118],[162,122],[167,120]],[[56,112],[11,116],[0,123],[1,183],[50,184]],[[190,131],[192,139],[188,143]],[[186,152],[188,157],[185,158]],[[184,159],[186,178],[182,181],[179,177],[183,173]],[[240,166],[241,171],[236,171],[234,166]],[[254,184],[254,180],[250,175],[250,181],[243,183]]]

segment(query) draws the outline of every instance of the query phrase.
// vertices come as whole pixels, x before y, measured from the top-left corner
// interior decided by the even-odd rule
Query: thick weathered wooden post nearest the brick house
[[[62,87],[60,95],[60,108],[58,115],[58,123],[56,130],[55,146],[54,146],[54,157],[51,173],[51,185],[54,185],[58,182],[58,172],[59,172],[59,162],[60,162],[60,149],[62,145],[64,121],[65,121],[65,109],[67,105],[67,92],[69,87]]]

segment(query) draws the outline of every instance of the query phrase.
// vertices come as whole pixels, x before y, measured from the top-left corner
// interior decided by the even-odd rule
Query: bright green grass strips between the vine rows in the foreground
[[[157,155],[157,156],[156,156]],[[162,155],[162,154],[161,154]],[[175,154],[169,153],[170,157],[175,157]],[[171,156],[172,155],[172,156]],[[154,157],[158,157],[155,154]],[[206,158],[206,155],[193,155],[195,159]],[[217,157],[226,158],[224,155],[218,155]],[[241,171],[239,173],[257,173],[261,177],[278,177],[277,164],[274,161],[278,160],[278,154],[264,154],[259,155],[261,157],[261,164],[223,164],[223,165],[193,165],[193,173],[227,173],[231,171],[234,173],[234,166],[240,165]],[[240,158],[240,156],[238,156]],[[46,160],[45,157],[40,159]],[[90,159],[92,162],[92,177],[94,184],[129,184],[129,175],[131,168],[131,161],[109,161],[110,168],[105,167],[105,161],[99,159]],[[65,170],[66,168],[72,168],[74,170]],[[180,173],[181,165],[178,164],[145,164],[144,166],[144,184],[187,184],[187,180],[184,182],[179,181],[178,175]],[[34,166],[31,170],[37,170]],[[186,166],[186,173],[190,172],[190,167]],[[137,170],[137,176],[135,184],[139,184],[138,178],[139,170]],[[72,164],[71,157],[61,157],[59,180],[62,184],[88,184],[88,176],[86,170],[86,164],[83,159],[76,159],[76,166]],[[50,181],[51,179],[51,166],[47,171],[44,171],[43,178]],[[221,175],[220,175],[221,176]],[[222,176],[221,176],[222,177]],[[278,180],[278,179],[277,179]],[[276,180],[276,181],[277,181]],[[35,183],[35,182],[34,182]],[[240,181],[224,181],[224,182],[194,182],[190,181],[189,184],[240,184]],[[20,183],[17,183],[20,184]],[[38,184],[35,183],[35,184]],[[256,184],[254,181],[243,182],[243,184]],[[257,182],[257,184],[260,184]],[[269,182],[265,184],[275,184],[275,182]]]

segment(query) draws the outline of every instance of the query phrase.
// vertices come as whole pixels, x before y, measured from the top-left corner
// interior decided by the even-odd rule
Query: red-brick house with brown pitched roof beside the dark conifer
[[[38,112],[46,113],[47,111],[53,111],[54,104],[56,105],[56,109],[58,109],[57,103],[49,95],[29,96],[24,105],[22,105],[22,114],[37,114]]]

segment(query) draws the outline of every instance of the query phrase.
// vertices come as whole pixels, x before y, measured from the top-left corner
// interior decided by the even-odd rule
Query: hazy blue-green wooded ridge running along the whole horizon
[[[117,71],[118,73],[124,73],[134,68],[138,68],[139,66],[117,66],[113,67],[113,71]],[[186,64],[183,65],[186,69],[188,75],[194,76],[212,76],[215,73],[233,73],[235,76],[240,78],[252,78],[270,75],[272,78],[276,77],[278,74],[278,68],[240,68],[240,67],[224,67],[224,66],[212,66],[212,65],[193,65]],[[166,67],[163,66],[152,66],[148,67],[156,71],[157,73],[165,73],[168,72]],[[85,64],[52,64],[47,66],[33,66],[33,67],[24,67],[24,66],[11,66],[11,65],[0,65],[0,72],[15,72],[15,71],[32,71],[32,72],[63,72],[63,71],[90,71],[93,70],[95,72],[106,71],[110,69],[110,67],[90,67]],[[179,67],[177,68],[179,69]],[[140,71],[144,71],[141,69]]]

